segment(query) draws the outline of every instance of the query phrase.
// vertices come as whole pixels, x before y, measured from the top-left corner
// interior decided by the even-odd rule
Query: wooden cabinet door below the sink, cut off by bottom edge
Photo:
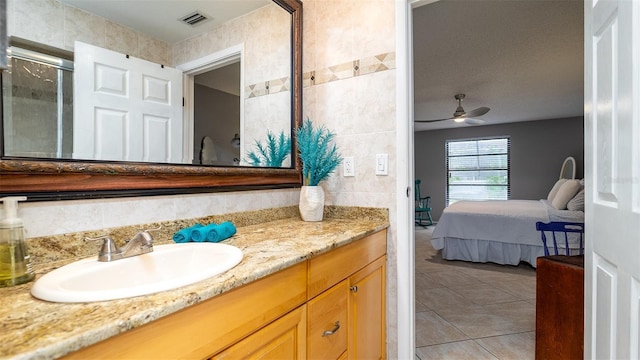
[[[211,359],[304,359],[306,305],[303,305]]]

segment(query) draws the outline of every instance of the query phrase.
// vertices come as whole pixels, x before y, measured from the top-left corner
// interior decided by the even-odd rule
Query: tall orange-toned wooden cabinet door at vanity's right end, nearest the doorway
[[[386,256],[349,278],[349,358],[386,358]]]

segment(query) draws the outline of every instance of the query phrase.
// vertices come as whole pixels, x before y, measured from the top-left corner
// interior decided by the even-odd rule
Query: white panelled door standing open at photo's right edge
[[[585,3],[588,359],[640,357],[639,6]]]

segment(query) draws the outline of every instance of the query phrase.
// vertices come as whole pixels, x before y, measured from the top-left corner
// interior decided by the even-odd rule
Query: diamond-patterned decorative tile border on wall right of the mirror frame
[[[331,81],[345,80],[356,76],[396,68],[396,53],[389,52],[349,61],[328,68],[306,72],[302,75],[302,87],[320,85]]]

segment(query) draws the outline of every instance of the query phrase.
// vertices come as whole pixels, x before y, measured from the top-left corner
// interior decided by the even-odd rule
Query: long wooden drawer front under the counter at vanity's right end
[[[308,299],[346,279],[387,252],[387,231],[383,230],[338,251],[309,260]]]

